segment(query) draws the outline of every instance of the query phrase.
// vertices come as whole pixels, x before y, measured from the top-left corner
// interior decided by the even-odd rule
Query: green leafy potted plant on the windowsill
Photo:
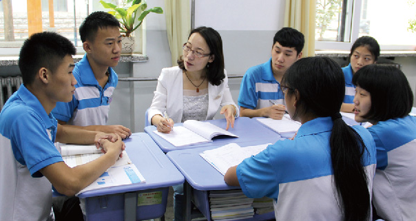
[[[157,14],[163,14],[163,9],[160,7],[154,7],[147,9],[147,3],[144,0],[127,0],[123,1],[121,7],[115,6],[112,3],[100,1],[104,8],[110,9],[108,13],[114,15],[121,23],[120,32],[123,35],[121,54],[132,54],[134,37],[132,36],[134,30],[136,30],[143,23],[143,19],[150,12]],[[139,23],[134,25],[137,20]]]

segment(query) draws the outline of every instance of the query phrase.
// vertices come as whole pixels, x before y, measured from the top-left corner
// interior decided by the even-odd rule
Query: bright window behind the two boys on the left
[[[93,11],[105,10],[99,1],[94,0],[39,0],[40,6],[34,6],[33,0],[0,0],[0,56],[16,56],[23,41],[28,38],[31,28],[34,32],[53,31],[70,39],[79,54],[83,54],[79,36],[79,26]],[[107,0],[117,4],[121,0]],[[53,3],[53,8],[50,8]],[[28,12],[29,8],[33,8]],[[30,12],[39,10],[38,23],[28,21]],[[10,13],[12,12],[12,13]],[[34,13],[37,14],[37,13]],[[29,24],[28,24],[29,23]],[[137,34],[138,35],[138,34]],[[138,41],[136,39],[136,41]],[[141,43],[136,44],[139,48]],[[141,50],[141,49],[138,49]]]

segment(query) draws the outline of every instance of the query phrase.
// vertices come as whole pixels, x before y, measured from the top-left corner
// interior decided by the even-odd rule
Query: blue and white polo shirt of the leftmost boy
[[[24,85],[0,113],[0,220],[51,220],[52,185],[40,169],[61,162],[57,121]]]

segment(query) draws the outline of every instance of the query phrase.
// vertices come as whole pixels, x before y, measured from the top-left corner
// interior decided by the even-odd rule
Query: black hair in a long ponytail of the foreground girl
[[[368,190],[368,178],[362,165],[366,147],[357,131],[346,125],[340,116],[345,91],[340,65],[325,57],[300,59],[284,74],[282,85],[289,87],[287,96],[298,96],[295,115],[332,117],[329,144],[333,182],[344,220],[368,220],[371,190]]]

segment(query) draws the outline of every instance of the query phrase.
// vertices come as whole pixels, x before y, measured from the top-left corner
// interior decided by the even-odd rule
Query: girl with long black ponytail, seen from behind
[[[231,167],[225,182],[249,198],[273,198],[276,220],[369,220],[375,144],[364,127],[342,120],[344,84],[329,58],[296,61],[281,87],[289,115],[302,123],[298,134]]]

